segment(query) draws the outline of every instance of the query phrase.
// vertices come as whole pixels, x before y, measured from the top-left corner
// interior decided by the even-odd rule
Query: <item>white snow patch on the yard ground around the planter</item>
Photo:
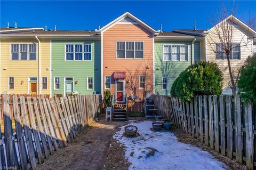
[[[136,125],[140,136],[123,136],[125,126],[113,136],[126,147],[125,157],[132,163],[129,169],[229,169],[209,152],[178,142],[171,132],[150,131],[151,121],[129,125]]]

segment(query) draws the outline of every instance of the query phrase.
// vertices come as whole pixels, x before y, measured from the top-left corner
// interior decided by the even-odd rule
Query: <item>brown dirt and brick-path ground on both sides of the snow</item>
[[[140,117],[132,119],[149,120]],[[126,123],[105,122],[103,115],[100,116],[99,120],[99,122],[85,128],[72,143],[68,144],[68,147],[59,149],[37,169],[127,170],[131,163],[125,158],[125,148],[112,137],[115,132],[119,131],[119,127]],[[244,165],[239,165],[235,160],[230,160],[211,150],[210,147],[203,145],[180,129],[173,128],[172,132],[180,142],[210,152],[216,159],[228,165],[230,169],[246,169]]]

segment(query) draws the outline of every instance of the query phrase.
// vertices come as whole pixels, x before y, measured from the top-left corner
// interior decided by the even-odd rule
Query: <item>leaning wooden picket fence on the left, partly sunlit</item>
[[[3,134],[0,128],[1,169],[36,169],[37,164],[66,147],[92,123],[101,110],[101,95],[50,99],[12,95],[10,99],[2,94],[0,104],[4,114]]]

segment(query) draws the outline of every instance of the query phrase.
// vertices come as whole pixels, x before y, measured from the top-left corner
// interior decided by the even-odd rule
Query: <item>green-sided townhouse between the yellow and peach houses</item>
[[[52,95],[101,93],[100,40],[52,40]]]

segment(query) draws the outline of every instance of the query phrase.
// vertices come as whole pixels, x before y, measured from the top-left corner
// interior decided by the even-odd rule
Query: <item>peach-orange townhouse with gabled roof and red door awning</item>
[[[125,95],[142,98],[145,93],[153,94],[153,46],[157,32],[129,12],[98,32],[102,44],[101,91],[110,90],[116,102],[125,102]]]

